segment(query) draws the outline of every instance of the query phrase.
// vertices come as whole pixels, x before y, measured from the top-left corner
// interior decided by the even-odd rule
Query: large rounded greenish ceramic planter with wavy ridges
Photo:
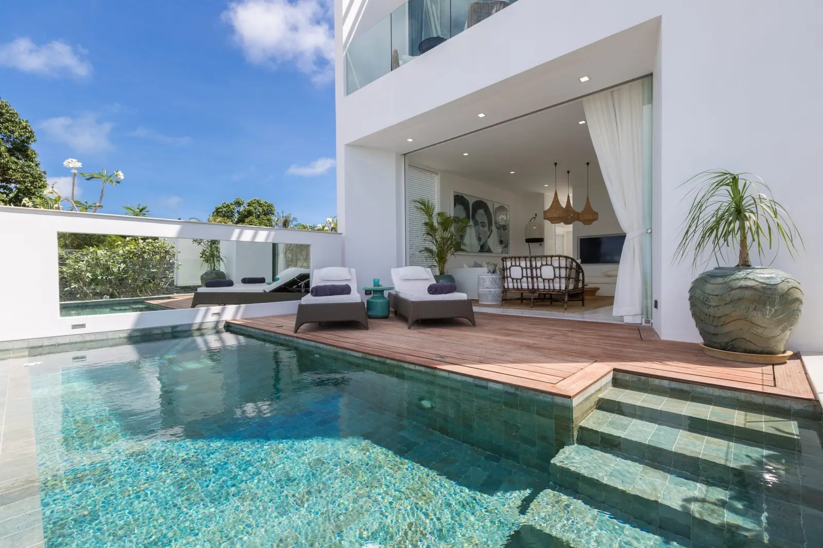
[[[777,269],[720,267],[695,279],[689,305],[706,347],[776,356],[800,320],[803,292]]]

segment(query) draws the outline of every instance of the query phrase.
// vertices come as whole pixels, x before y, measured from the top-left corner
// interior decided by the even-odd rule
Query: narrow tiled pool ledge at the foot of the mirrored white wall
[[[70,352],[89,348],[103,348],[120,344],[146,343],[163,338],[192,337],[223,331],[225,322],[204,321],[197,324],[166,325],[101,331],[99,333],[78,333],[61,337],[28,338],[15,341],[0,341],[0,360],[13,357],[42,356],[54,352]]]

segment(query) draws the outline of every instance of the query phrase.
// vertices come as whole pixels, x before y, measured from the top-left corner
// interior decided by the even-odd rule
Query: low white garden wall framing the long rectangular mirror
[[[196,324],[263,315],[291,314],[297,302],[210,306],[186,310],[60,317],[57,233],[205,238],[239,242],[305,243],[314,268],[342,264],[342,237],[279,228],[244,227],[72,211],[0,206],[0,341]],[[9,235],[13,235],[9,236]],[[85,323],[85,329],[72,324]]]

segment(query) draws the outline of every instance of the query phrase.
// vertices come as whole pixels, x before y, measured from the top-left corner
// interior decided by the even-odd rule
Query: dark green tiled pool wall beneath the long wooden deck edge
[[[360,352],[229,324],[236,334],[312,349],[317,359],[340,355],[369,378],[351,375],[348,390],[376,408],[404,417],[453,440],[548,472],[551,459],[574,443],[577,426],[611,385],[611,375],[574,401],[465,375],[374,357]],[[362,375],[362,374],[361,374]],[[375,440],[377,441],[377,440]]]

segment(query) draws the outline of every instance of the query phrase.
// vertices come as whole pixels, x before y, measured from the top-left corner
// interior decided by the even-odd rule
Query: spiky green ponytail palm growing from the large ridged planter
[[[753,177],[756,181],[746,178]],[[711,169],[683,184],[696,184],[683,236],[675,251],[682,261],[689,252],[696,266],[706,252],[720,263],[729,247],[737,248],[737,266],[751,266],[751,246],[762,258],[765,249],[785,245],[794,257],[803,240],[783,205],[774,200],[770,187],[751,173]]]

